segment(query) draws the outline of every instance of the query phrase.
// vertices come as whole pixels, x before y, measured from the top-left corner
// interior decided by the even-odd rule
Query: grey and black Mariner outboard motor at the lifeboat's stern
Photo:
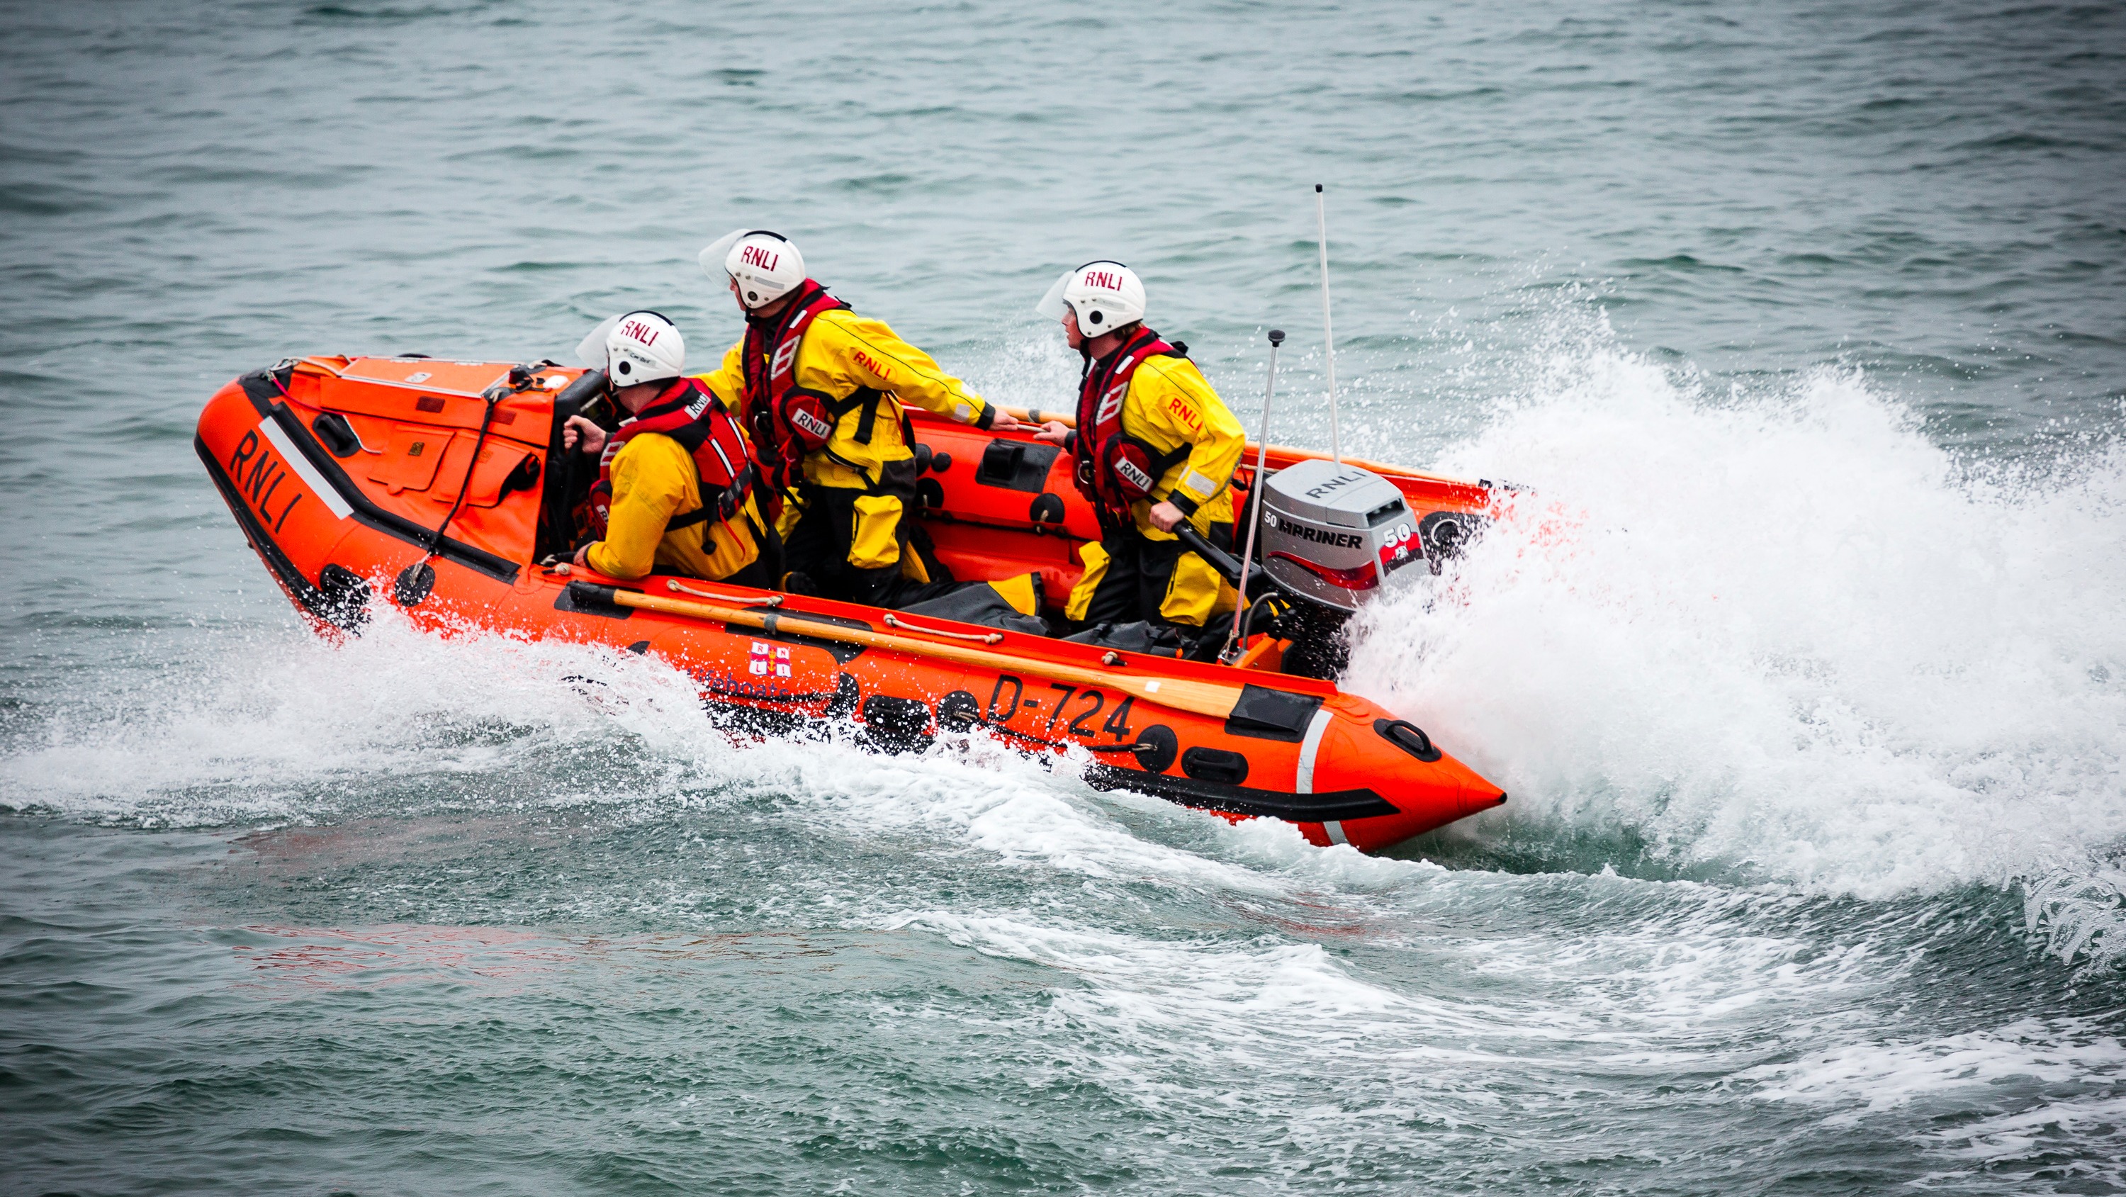
[[[1263,572],[1303,595],[1280,619],[1284,672],[1333,678],[1350,661],[1344,623],[1403,566],[1424,561],[1403,491],[1371,470],[1301,461],[1269,476],[1256,546]]]

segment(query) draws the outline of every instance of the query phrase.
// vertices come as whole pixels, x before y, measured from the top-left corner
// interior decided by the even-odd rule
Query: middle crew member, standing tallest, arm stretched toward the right
[[[859,317],[806,276],[797,247],[765,230],[702,251],[731,285],[746,336],[708,376],[738,395],[767,483],[793,495],[782,515],[787,587],[870,606],[908,606],[948,589],[910,549],[914,432],[904,404],[976,427],[1012,427],[884,321]],[[802,574],[802,576],[791,576]]]

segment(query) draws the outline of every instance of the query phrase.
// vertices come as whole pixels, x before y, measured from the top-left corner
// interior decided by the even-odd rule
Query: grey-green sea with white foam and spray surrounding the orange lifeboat
[[[0,4],[0,1193],[2120,1193],[2126,11]],[[1505,478],[1390,857],[302,627],[191,451],[793,236],[982,393],[1118,257]]]

